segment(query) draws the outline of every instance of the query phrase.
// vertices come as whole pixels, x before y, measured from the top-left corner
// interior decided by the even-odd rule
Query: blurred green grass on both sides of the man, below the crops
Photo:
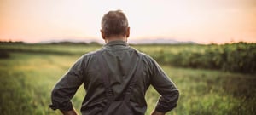
[[[44,48],[44,53],[15,51],[9,53],[9,58],[0,59],[1,115],[61,114],[49,109],[51,89],[79,58],[79,54],[99,47],[56,47]],[[69,48],[70,52],[78,49],[77,54],[54,53],[54,50]],[[47,53],[48,50],[52,53]],[[177,108],[168,115],[239,115],[256,112],[256,78],[253,75],[162,66],[181,93]],[[73,98],[73,105],[78,111],[84,95],[84,89],[80,87]],[[159,95],[150,87],[146,95],[147,115],[154,109],[158,98]]]

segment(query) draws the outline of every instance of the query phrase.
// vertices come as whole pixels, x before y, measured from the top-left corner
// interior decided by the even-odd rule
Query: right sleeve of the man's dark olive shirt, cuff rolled
[[[158,112],[169,112],[177,106],[179,91],[155,60],[150,58],[149,64],[151,67],[151,84],[160,94],[155,110]]]

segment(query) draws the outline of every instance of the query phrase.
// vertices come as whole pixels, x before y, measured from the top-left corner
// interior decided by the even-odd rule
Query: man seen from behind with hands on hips
[[[84,83],[86,95],[81,107],[82,114],[108,114],[106,111],[111,102],[124,100],[131,82],[136,81],[130,89],[129,100],[125,101],[129,103],[132,113],[121,110],[124,115],[145,113],[147,104],[144,97],[150,84],[161,95],[152,115],[164,115],[171,111],[177,104],[177,87],[150,56],[127,44],[130,27],[125,14],[120,10],[105,14],[102,18],[101,33],[106,45],[100,50],[83,55],[56,83],[50,107],[54,110],[60,109],[63,114],[76,115],[70,100]],[[113,101],[110,101],[110,105],[107,104],[109,96],[106,83],[109,83],[112,93],[110,98]]]

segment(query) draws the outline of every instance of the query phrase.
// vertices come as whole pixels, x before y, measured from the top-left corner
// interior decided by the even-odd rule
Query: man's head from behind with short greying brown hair
[[[130,36],[130,27],[125,14],[121,10],[109,11],[102,17],[102,38],[126,39]]]

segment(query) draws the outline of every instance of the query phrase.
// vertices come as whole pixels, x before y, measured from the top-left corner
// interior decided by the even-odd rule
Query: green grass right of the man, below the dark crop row
[[[253,114],[255,82],[250,75],[200,69],[164,70],[181,91],[173,114]]]

